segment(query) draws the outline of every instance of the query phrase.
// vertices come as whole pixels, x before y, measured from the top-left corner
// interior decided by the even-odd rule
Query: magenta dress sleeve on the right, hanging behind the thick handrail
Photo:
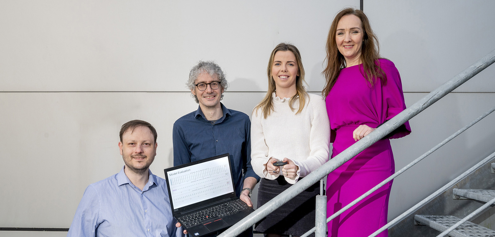
[[[402,82],[396,66],[391,61],[381,60],[381,68],[387,75],[387,84],[383,86],[383,104],[386,108],[384,122],[386,122],[406,109],[406,106],[404,93],[402,92]],[[407,121],[389,134],[387,138],[402,138],[410,133],[411,127],[409,126],[409,121]]]

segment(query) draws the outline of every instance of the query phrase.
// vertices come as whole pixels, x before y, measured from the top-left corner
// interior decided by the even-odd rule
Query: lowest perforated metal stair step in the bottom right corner
[[[414,215],[414,220],[417,225],[429,226],[437,231],[444,232],[461,219],[455,216]],[[448,233],[448,235],[451,237],[495,237],[495,231],[467,221]]]

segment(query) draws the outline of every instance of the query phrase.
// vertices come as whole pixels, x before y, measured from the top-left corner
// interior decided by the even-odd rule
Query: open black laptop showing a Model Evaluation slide
[[[236,196],[228,153],[164,171],[172,215],[191,236],[226,229],[254,211]]]

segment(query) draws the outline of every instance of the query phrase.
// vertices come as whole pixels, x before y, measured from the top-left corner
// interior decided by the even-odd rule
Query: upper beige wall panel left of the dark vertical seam
[[[299,47],[307,80],[334,14],[358,0],[10,1],[0,8],[0,91],[185,91],[198,60],[216,60],[232,91],[266,87],[280,42]]]

